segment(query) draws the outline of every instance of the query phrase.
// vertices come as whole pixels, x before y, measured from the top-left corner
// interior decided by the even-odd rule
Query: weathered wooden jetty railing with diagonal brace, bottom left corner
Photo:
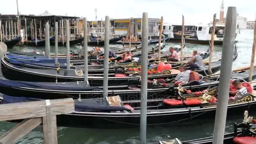
[[[58,144],[56,115],[74,111],[72,98],[1,104],[0,121],[24,120],[0,136],[0,143],[14,144],[42,123],[44,144]]]

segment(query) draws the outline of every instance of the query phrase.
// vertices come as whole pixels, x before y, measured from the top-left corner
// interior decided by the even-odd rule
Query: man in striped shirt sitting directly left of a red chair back
[[[179,81],[182,84],[186,84],[189,82],[190,70],[186,70],[184,65],[179,67],[180,73],[175,77],[175,81]]]

